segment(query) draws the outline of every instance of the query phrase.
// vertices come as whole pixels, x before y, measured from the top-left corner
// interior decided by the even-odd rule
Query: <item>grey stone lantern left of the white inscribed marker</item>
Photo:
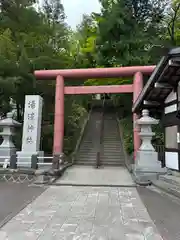
[[[3,138],[2,144],[0,145],[0,161],[9,159],[12,154],[16,154],[16,148],[12,142],[12,136],[14,135],[15,127],[20,126],[21,123],[13,119],[13,113],[9,112],[6,118],[0,120],[0,128],[2,132],[0,135]]]

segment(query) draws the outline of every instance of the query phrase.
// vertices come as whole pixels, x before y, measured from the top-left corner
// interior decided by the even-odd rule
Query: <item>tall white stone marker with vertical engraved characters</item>
[[[25,97],[25,110],[24,110],[24,123],[22,135],[22,149],[17,152],[18,166],[30,167],[31,156],[37,154],[43,156],[40,149],[41,138],[41,120],[42,120],[42,106],[43,99],[39,95],[26,95]],[[42,162],[40,159],[39,162]],[[21,164],[22,162],[22,164]],[[23,164],[27,162],[27,164]]]

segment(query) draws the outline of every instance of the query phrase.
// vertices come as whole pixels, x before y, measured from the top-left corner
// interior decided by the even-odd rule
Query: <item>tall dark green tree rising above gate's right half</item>
[[[99,64],[142,65],[152,63],[149,49],[157,42],[165,1],[101,0],[98,16]]]

